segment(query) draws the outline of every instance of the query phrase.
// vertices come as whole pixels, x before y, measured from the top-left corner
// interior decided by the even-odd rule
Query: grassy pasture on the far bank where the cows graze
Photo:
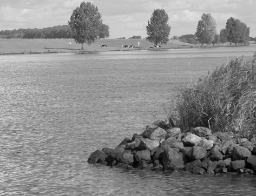
[[[136,49],[124,49],[124,45],[138,45]],[[106,44],[107,48],[101,48]],[[100,39],[88,46],[84,44],[85,51],[115,51],[115,50],[149,50],[153,43],[146,39]],[[193,44],[169,40],[161,45],[161,49],[191,48]],[[81,44],[76,44],[74,39],[0,39],[0,54],[4,53],[43,53],[43,52],[75,52],[81,49]],[[152,50],[152,49],[150,49]]]

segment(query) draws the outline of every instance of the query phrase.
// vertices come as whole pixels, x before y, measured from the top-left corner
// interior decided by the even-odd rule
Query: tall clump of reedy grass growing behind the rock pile
[[[170,120],[182,130],[204,126],[213,132],[248,133],[255,129],[255,63],[231,60],[208,72],[196,85],[179,89]]]

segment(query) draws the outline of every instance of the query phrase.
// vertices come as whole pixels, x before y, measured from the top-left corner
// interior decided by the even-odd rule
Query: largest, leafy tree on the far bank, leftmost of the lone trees
[[[81,2],[80,7],[73,10],[68,24],[73,32],[76,43],[90,45],[95,42],[102,24],[101,14],[97,6],[91,2]]]

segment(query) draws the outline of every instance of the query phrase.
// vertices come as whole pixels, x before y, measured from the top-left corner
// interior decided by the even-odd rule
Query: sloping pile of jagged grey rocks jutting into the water
[[[181,132],[157,120],[141,134],[124,140],[116,148],[93,152],[90,164],[111,167],[205,173],[256,172],[255,137],[235,136],[232,132],[212,133],[206,127]]]

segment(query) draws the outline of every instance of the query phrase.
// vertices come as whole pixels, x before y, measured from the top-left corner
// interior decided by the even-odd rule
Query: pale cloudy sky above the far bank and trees
[[[81,0],[0,0],[0,31],[66,25]],[[170,37],[194,34],[203,13],[211,13],[217,32],[233,17],[256,37],[256,0],[93,0],[109,38],[147,37],[146,25],[156,9],[165,9]]]

